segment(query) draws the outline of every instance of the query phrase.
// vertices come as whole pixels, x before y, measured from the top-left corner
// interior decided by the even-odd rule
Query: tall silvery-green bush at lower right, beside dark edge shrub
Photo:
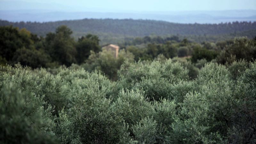
[[[200,70],[198,92],[188,93],[181,103],[180,118],[172,123],[168,137],[170,142],[223,142],[228,131],[228,120],[233,114],[231,109],[236,103],[229,76],[224,66],[213,63]]]

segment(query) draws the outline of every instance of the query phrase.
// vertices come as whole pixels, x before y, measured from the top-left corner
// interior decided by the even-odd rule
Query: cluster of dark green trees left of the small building
[[[90,55],[90,51],[99,52],[98,36],[88,34],[79,38],[78,42],[71,36],[72,31],[66,26],[56,28],[45,37],[31,34],[25,28],[12,26],[0,27],[0,63],[38,67],[70,66],[82,63]]]

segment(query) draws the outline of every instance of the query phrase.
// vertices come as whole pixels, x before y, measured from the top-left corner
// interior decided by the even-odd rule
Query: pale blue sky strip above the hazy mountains
[[[10,3],[13,2],[13,3]],[[256,0],[0,0],[0,9],[77,8],[77,10],[200,11],[256,9]],[[41,6],[37,6],[41,3]],[[44,3],[44,4],[43,4]],[[40,4],[39,4],[40,5]]]

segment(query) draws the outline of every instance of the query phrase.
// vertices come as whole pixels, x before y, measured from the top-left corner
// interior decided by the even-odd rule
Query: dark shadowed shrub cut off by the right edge
[[[250,63],[233,88],[234,98],[238,100],[234,107],[234,115],[230,118],[228,140],[230,143],[255,143],[256,120],[256,65]]]

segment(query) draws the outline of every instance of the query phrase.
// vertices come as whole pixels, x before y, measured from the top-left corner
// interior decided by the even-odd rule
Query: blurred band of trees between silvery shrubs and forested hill
[[[250,61],[256,58],[256,39],[246,37],[201,44],[186,38],[180,40],[177,36],[137,37],[120,44],[121,50],[116,59],[112,56],[112,51],[101,50],[98,36],[87,34],[75,41],[73,32],[67,26],[60,26],[45,37],[30,33],[25,28],[12,26],[0,27],[0,32],[2,65],[7,63],[13,66],[19,62],[22,66],[31,68],[57,68],[61,65],[69,67],[78,64],[90,72],[102,71],[112,80],[117,79],[117,70],[125,60],[132,62],[174,58],[190,70],[189,77],[193,79],[197,76],[198,68],[211,60],[230,64],[240,59]]]

